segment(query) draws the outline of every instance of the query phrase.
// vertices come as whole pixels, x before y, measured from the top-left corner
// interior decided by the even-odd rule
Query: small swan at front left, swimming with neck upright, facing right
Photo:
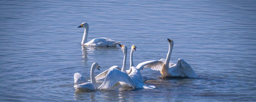
[[[98,67],[98,63],[93,63],[91,67],[91,82],[88,82],[85,77],[83,77],[80,73],[74,74],[74,88],[76,90],[96,90],[97,89],[97,83],[94,77],[94,69],[100,70]]]

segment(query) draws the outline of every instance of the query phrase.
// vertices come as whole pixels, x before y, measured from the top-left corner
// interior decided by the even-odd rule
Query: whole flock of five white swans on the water
[[[95,38],[87,42],[89,25],[84,22],[79,27],[84,27],[84,35],[81,44],[85,46],[116,46],[119,45],[124,53],[124,60],[122,69],[118,66],[112,66],[108,70],[100,73],[96,77],[94,76],[94,69],[99,69],[98,63],[93,63],[91,67],[91,82],[88,82],[85,77],[80,73],[74,74],[74,88],[78,91],[80,90],[101,90],[110,88],[116,83],[122,85],[125,88],[156,88],[153,85],[145,85],[140,70],[145,68],[150,68],[152,70],[160,71],[163,77],[190,77],[198,78],[196,73],[193,71],[192,67],[186,63],[183,59],[178,59],[176,64],[170,63],[170,57],[172,54],[173,41],[168,39],[169,50],[166,59],[152,60],[139,63],[136,67],[133,64],[133,52],[136,51],[136,46],[132,45],[130,52],[130,68],[126,70],[126,57],[127,57],[127,47],[125,45],[119,44],[114,40],[108,38]],[[102,84],[97,88],[96,80],[104,79]]]

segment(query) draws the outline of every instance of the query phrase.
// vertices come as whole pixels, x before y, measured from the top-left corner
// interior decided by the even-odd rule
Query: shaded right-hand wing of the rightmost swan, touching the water
[[[178,62],[174,67],[174,73],[180,73],[181,77],[188,76],[190,78],[198,78],[192,67],[183,59],[178,59]]]

